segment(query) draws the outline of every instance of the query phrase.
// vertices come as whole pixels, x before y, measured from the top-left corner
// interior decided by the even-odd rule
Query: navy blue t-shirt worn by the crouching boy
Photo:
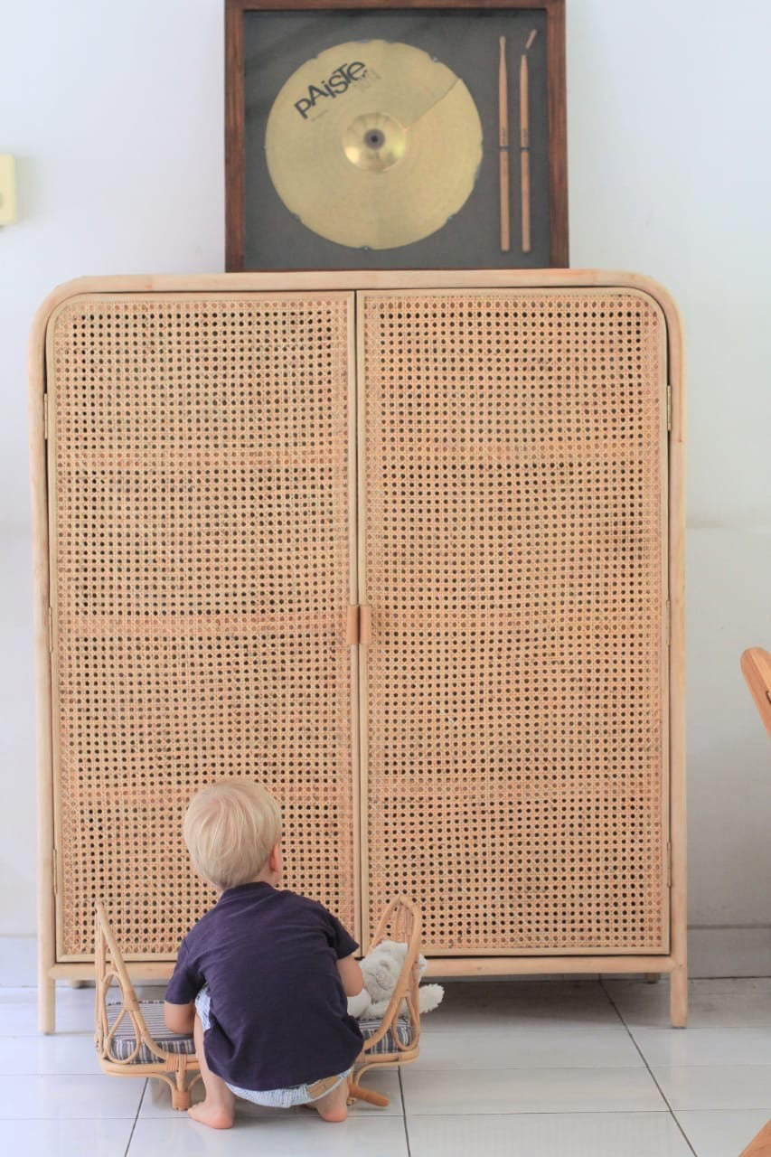
[[[241,1089],[289,1089],[344,1073],[361,1052],[337,961],[359,945],[315,900],[241,884],[191,928],[166,994],[208,985],[208,1067]]]

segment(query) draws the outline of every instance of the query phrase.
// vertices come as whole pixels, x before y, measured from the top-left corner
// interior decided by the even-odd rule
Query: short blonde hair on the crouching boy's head
[[[252,780],[218,780],[190,801],[184,837],[200,875],[223,892],[260,874],[281,838],[281,811]]]

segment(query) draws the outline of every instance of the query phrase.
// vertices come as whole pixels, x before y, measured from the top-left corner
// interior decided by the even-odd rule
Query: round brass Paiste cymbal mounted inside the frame
[[[392,249],[440,229],[468,200],[482,123],[454,72],[409,44],[338,44],[281,88],[265,131],[276,191],[340,245]]]

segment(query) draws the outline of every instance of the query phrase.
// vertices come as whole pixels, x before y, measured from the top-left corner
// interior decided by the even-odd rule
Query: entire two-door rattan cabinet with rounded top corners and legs
[[[676,310],[596,271],[71,282],[31,346],[41,1020],[105,900],[168,975],[188,799],[440,975],[670,973],[685,1020]]]

